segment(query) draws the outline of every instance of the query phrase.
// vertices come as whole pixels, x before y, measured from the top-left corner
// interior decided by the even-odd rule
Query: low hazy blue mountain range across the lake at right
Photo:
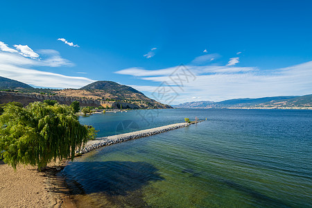
[[[175,108],[284,108],[312,109],[312,95],[239,98],[220,102],[196,101],[173,105]]]

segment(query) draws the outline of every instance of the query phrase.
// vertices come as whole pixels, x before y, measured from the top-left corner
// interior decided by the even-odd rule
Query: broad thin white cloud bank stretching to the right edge
[[[184,103],[193,97],[200,97],[202,101],[223,101],[231,98],[304,95],[312,92],[312,61],[270,70],[259,70],[257,67],[187,65],[196,80],[184,83],[183,90],[175,86],[169,77],[177,67],[158,70],[130,68],[116,73],[151,82],[150,85],[133,86],[151,98],[162,82],[168,83],[179,94],[171,104]]]

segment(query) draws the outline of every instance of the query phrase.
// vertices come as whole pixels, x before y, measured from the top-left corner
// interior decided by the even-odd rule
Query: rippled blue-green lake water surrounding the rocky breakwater
[[[312,207],[312,111],[139,110],[80,123],[103,137],[195,116],[207,121],[75,159],[62,174],[78,205]]]

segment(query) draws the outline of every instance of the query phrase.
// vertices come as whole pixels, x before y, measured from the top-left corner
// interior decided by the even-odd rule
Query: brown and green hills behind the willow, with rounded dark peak
[[[40,89],[17,80],[0,77],[0,103],[21,101],[24,105],[38,99],[55,99],[63,104],[77,100],[84,105],[131,108],[171,108],[145,96],[137,89],[112,81],[97,81],[80,89]],[[8,92],[14,90],[15,92]],[[6,94],[4,92],[6,92]],[[21,96],[21,94],[28,96]],[[5,96],[6,95],[6,96]],[[32,95],[32,96],[30,96]],[[64,99],[67,98],[67,99]]]

